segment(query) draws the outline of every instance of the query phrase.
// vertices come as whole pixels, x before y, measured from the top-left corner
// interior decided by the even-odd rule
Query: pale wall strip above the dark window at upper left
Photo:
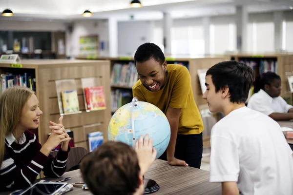
[[[66,25],[63,21],[13,21],[0,20],[2,31],[65,31]]]

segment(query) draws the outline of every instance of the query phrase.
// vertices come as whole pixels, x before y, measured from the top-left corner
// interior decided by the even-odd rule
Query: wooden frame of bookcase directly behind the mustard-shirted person
[[[115,64],[131,64],[134,63],[134,59],[132,57],[95,57],[95,58],[86,58],[86,57],[77,57],[76,59],[103,59],[103,60],[110,60],[111,64],[111,71],[113,72],[113,67]],[[202,90],[201,85],[198,78],[197,71],[199,69],[208,69],[214,64],[230,60],[229,56],[224,57],[203,57],[203,58],[173,58],[173,57],[166,57],[167,64],[171,63],[178,63],[186,66],[189,70],[191,75],[191,85],[192,91],[194,94],[194,100],[197,105],[206,104],[206,101],[202,99]],[[138,78],[137,78],[138,79]],[[119,85],[119,84],[112,84],[111,90],[128,90],[130,94],[132,94],[132,85]],[[132,95],[131,97],[132,98]],[[112,105],[111,105],[112,106]],[[115,109],[112,109],[112,113],[115,112]]]

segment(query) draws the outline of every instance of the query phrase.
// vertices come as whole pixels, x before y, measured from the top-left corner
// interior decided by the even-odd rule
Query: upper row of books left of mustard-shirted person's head
[[[114,64],[111,72],[111,85],[132,87],[138,80],[134,62],[128,64]]]

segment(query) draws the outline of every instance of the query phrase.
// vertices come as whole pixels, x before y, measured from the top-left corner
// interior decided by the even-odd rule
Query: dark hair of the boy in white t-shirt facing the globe
[[[207,71],[211,76],[216,92],[229,87],[230,101],[245,103],[251,89],[254,72],[248,65],[237,61],[223,61]]]

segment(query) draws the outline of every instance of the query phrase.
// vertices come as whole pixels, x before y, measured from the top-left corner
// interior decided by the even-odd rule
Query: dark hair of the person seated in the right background
[[[274,79],[281,80],[280,76],[272,72],[263,73],[257,76],[253,83],[253,93],[257,93],[260,89],[265,90],[265,85],[271,85]]]

